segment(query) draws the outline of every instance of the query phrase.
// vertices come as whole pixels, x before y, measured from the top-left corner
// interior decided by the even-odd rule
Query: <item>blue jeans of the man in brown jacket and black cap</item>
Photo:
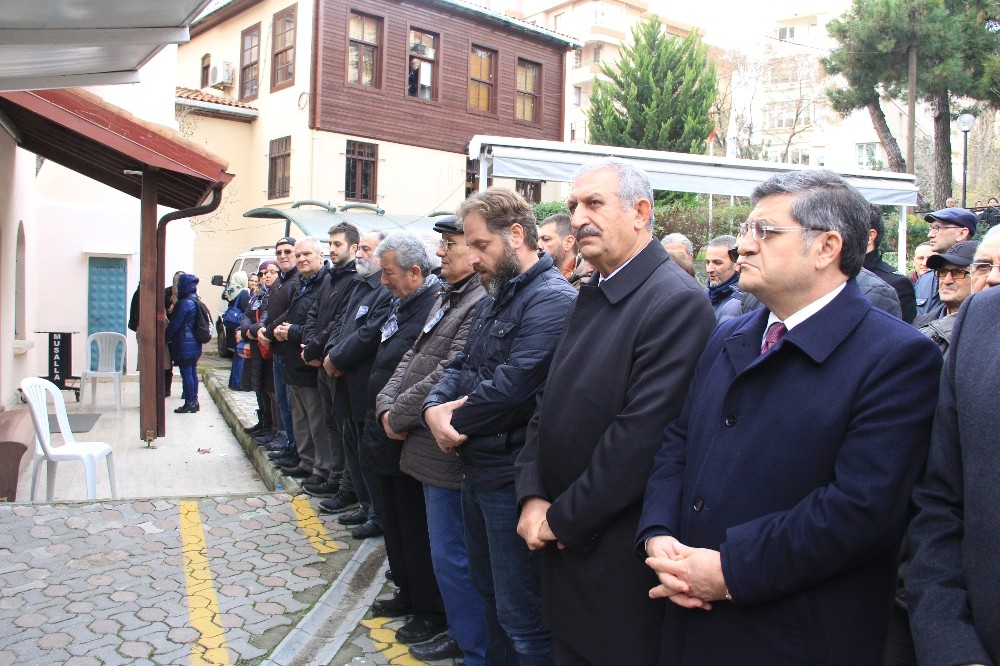
[[[486,608],[469,577],[462,527],[462,491],[424,484],[431,561],[452,639],[466,666],[486,663]]]

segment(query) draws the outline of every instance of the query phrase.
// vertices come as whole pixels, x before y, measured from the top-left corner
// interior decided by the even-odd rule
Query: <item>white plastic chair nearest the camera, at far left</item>
[[[67,460],[83,462],[87,478],[87,499],[97,497],[97,461],[108,459],[108,479],[111,481],[111,498],[118,498],[115,488],[115,464],[111,447],[104,442],[78,442],[73,437],[66,417],[66,402],[63,400],[59,387],[47,379],[26,377],[21,380],[21,392],[28,401],[31,410],[31,420],[35,424],[35,459],[31,470],[31,501],[35,501],[35,488],[38,485],[38,473],[42,469],[42,461],[46,463],[47,486],[45,499],[52,501],[56,482],[56,463]],[[52,434],[49,432],[48,397],[52,396],[52,404],[59,424],[59,432],[63,444],[55,446]]]

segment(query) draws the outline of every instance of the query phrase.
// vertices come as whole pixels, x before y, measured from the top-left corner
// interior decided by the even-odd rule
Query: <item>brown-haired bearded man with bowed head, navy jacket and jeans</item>
[[[490,297],[424,401],[424,421],[438,446],[462,461],[469,574],[486,605],[487,663],[548,664],[539,553],[516,532],[514,460],[576,291],[549,255],[538,256],[535,217],[519,194],[477,192],[456,215]]]

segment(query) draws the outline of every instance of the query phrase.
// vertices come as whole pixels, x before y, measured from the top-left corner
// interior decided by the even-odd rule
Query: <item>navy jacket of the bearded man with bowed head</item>
[[[476,306],[465,349],[422,408],[468,396],[451,419],[468,436],[458,447],[468,482],[493,490],[514,482],[536,394],[575,300],[576,290],[543,254],[499,297]]]

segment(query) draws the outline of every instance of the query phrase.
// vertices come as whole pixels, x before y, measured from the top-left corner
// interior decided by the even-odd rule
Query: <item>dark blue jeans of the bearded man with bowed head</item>
[[[552,644],[542,626],[541,553],[517,534],[514,484],[485,490],[462,481],[462,518],[469,576],[486,604],[493,664],[550,666]]]

